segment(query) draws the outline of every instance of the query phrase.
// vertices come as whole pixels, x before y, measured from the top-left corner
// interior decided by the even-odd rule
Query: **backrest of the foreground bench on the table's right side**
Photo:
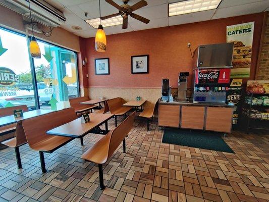
[[[135,112],[128,116],[117,128],[115,128],[111,134],[109,154],[108,158],[114,153],[114,151],[121,144],[123,139],[131,131],[134,123]]]

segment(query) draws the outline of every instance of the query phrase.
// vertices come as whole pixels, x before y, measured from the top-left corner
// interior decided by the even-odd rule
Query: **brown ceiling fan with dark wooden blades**
[[[122,0],[123,5],[121,6],[113,2],[113,0],[105,0],[105,2],[117,8],[119,10],[119,13],[101,17],[101,20],[105,20],[108,18],[121,15],[123,17],[123,24],[122,24],[123,29],[127,29],[128,27],[128,15],[130,15],[132,18],[135,18],[143,23],[146,23],[146,24],[149,23],[148,19],[133,13],[133,11],[140,9],[144,6],[147,6],[147,2],[144,0],[141,0],[140,2],[134,4],[133,6],[128,5],[129,0]]]

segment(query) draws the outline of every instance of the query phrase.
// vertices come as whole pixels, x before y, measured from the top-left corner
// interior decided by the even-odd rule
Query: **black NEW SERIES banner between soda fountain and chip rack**
[[[242,79],[231,79],[229,90],[227,91],[226,102],[234,105],[233,127],[238,123],[241,108]]]

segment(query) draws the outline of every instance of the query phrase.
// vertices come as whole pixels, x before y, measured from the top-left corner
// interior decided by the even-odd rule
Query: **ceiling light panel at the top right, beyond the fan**
[[[222,0],[187,0],[169,4],[169,16],[217,9]]]

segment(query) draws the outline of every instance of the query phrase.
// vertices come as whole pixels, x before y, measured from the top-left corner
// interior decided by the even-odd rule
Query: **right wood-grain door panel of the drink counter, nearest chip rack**
[[[233,108],[207,107],[205,130],[230,133]]]

